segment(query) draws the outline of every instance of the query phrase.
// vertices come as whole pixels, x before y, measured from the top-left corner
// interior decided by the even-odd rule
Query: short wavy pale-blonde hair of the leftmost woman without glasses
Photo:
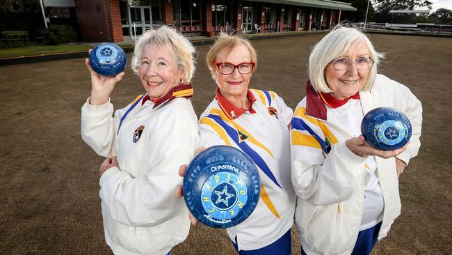
[[[161,26],[159,29],[150,29],[138,39],[132,56],[131,68],[138,75],[141,58],[147,45],[166,49],[176,58],[177,68],[184,71],[184,84],[191,82],[195,73],[195,47],[191,42],[174,29]]]

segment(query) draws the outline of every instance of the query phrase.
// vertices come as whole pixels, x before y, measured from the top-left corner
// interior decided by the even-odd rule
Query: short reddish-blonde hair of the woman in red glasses
[[[250,51],[251,61],[255,63],[255,67],[252,69],[252,72],[255,72],[257,69],[257,54],[254,47],[252,47],[250,41],[246,40],[245,38],[237,35],[228,35],[227,33],[220,33],[215,43],[212,45],[212,47],[209,49],[209,52],[207,52],[206,56],[206,62],[207,67],[209,67],[209,70],[212,74],[215,73],[215,61],[218,54],[223,50],[227,49],[227,54],[234,49],[237,45],[245,45],[248,50]]]

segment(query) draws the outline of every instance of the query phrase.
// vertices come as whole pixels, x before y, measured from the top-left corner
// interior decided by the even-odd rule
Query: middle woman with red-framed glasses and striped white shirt
[[[291,254],[296,196],[290,176],[292,109],[273,91],[249,89],[257,55],[248,40],[221,34],[207,54],[218,88],[200,116],[200,146],[234,146],[259,169],[261,197],[250,217],[227,229],[239,254]]]

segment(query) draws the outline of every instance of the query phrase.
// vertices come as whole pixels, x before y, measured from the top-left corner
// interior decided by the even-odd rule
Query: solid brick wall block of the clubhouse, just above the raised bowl
[[[120,42],[122,26],[118,0],[76,0],[82,40]]]

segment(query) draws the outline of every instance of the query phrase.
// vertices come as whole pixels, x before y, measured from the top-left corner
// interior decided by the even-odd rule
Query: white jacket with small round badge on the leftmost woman
[[[166,254],[190,229],[188,209],[175,190],[182,183],[179,167],[190,162],[199,143],[197,118],[185,98],[155,108],[148,100],[143,106],[138,102],[117,134],[131,105],[112,118],[110,102],[95,106],[88,98],[81,112],[83,140],[104,157],[111,157],[114,147],[118,157],[119,168],[100,178],[105,239],[115,255]]]

